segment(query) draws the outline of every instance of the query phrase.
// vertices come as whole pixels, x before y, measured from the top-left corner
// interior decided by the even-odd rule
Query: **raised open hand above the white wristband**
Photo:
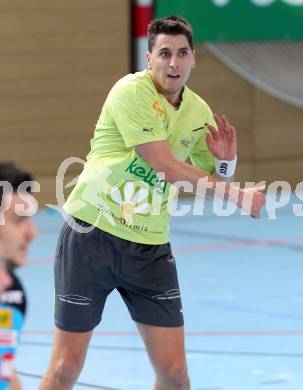
[[[207,126],[207,147],[218,160],[233,160],[237,154],[236,130],[225,116],[214,115],[214,119],[218,129]]]

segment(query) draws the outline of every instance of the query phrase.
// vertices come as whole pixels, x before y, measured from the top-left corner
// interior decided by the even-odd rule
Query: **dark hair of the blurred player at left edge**
[[[18,187],[24,181],[32,181],[32,175],[17,167],[12,162],[0,162],[0,181],[8,181],[13,187],[13,192],[17,192]],[[27,189],[30,192],[30,187]],[[2,202],[3,187],[0,186],[0,201]]]

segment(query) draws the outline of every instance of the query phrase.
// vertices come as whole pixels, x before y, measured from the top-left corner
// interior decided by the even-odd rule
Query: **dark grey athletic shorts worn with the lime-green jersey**
[[[107,296],[116,288],[136,322],[183,325],[175,259],[170,244],[127,241],[69,217],[55,257],[55,323],[69,332],[88,332],[101,321]],[[71,225],[71,226],[70,226]]]

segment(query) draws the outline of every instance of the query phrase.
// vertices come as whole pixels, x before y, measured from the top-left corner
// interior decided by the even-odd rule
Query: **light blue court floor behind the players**
[[[218,217],[211,203],[204,216],[172,218],[192,389],[303,389],[303,217],[294,216],[294,202],[276,219],[266,210],[259,220]],[[18,270],[29,300],[17,358],[25,390],[38,389],[50,358],[53,255],[63,223],[50,209],[34,218],[40,235]],[[148,390],[153,379],[136,326],[113,292],[74,388]]]

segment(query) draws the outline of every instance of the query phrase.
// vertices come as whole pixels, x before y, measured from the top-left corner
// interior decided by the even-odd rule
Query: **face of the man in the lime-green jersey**
[[[156,88],[171,104],[177,104],[180,92],[186,84],[195,64],[195,52],[187,37],[159,34],[151,53],[147,53]]]

